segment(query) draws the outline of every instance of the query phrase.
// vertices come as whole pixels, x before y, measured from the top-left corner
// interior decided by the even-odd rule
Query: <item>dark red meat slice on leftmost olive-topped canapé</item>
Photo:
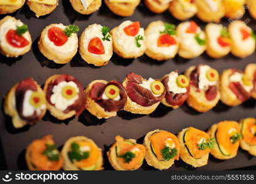
[[[25,93],[28,90],[37,91],[36,82],[32,78],[24,79],[18,84],[15,91],[15,105],[18,115],[22,120],[25,120],[28,123],[34,123],[39,120],[39,116],[37,115],[36,111],[34,111],[33,115],[29,117],[25,117],[22,113]]]

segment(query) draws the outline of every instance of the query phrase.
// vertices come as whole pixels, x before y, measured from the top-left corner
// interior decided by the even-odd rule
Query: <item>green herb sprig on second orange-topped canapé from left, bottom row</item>
[[[80,161],[82,159],[88,158],[90,153],[88,151],[80,151],[79,145],[76,142],[72,142],[71,151],[68,152],[69,159],[71,161]]]

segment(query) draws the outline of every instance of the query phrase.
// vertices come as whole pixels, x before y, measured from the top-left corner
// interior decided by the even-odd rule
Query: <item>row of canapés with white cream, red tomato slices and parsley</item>
[[[255,34],[243,21],[233,21],[228,29],[209,23],[205,33],[195,21],[177,26],[153,21],[144,31],[138,21],[124,21],[109,33],[107,26],[90,25],[79,39],[75,25],[52,24],[41,33],[40,52],[55,63],[65,64],[76,55],[78,46],[83,60],[95,66],[106,65],[113,50],[123,58],[137,58],[144,53],[158,61],[174,58],[195,58],[205,50],[220,58],[228,53],[244,58],[255,51]],[[31,48],[28,26],[7,16],[0,21],[0,52],[9,57],[24,55]],[[125,61],[124,61],[125,62]]]

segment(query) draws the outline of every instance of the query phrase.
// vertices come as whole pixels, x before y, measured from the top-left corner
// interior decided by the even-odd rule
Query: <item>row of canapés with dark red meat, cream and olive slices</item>
[[[49,77],[43,90],[33,79],[24,79],[7,93],[4,111],[14,127],[21,128],[41,120],[47,109],[59,120],[79,116],[85,109],[97,118],[111,118],[122,109],[149,114],[160,102],[177,109],[187,101],[198,112],[206,112],[219,99],[236,106],[250,97],[256,98],[256,64],[248,64],[245,72],[227,69],[221,77],[217,70],[200,64],[189,67],[185,75],[172,71],[162,79],[147,80],[131,72],[123,83],[94,80],[85,90],[67,74]]]

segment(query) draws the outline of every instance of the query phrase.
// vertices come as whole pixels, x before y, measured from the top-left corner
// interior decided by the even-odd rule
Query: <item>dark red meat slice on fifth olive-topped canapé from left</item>
[[[165,90],[166,90],[166,93],[165,93],[166,102],[168,102],[168,104],[173,105],[173,106],[182,105],[185,102],[185,100],[188,98],[188,93],[190,91],[190,85],[187,86],[187,93],[175,94],[175,93],[169,91],[168,81],[169,81],[168,76],[164,77],[163,80],[161,81],[163,83],[163,85],[165,86]]]

